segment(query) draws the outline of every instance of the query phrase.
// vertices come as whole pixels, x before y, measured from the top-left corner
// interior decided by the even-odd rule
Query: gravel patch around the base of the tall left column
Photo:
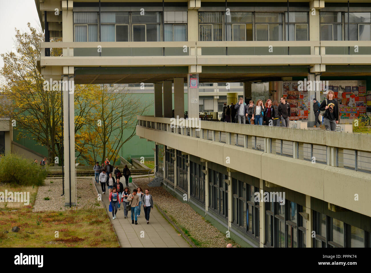
[[[53,183],[50,183],[50,181],[53,181]],[[92,179],[77,179],[77,209],[104,209],[102,201],[97,201],[97,194],[94,187]],[[47,178],[44,185],[40,186],[37,191],[36,201],[32,211],[70,210],[70,207],[65,207],[65,196],[61,196],[61,194],[62,179]],[[44,200],[45,197],[49,197],[50,200]],[[97,206],[96,204],[100,205]],[[72,209],[76,209],[76,207],[72,207]]]

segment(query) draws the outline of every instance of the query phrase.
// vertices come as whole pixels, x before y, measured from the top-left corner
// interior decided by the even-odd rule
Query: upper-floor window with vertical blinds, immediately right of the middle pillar
[[[221,12],[200,11],[198,13],[200,41],[223,40],[223,15]]]

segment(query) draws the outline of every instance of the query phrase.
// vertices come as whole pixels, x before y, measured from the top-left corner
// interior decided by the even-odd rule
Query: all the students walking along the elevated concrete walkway
[[[334,91],[328,91],[327,99],[324,99],[322,103],[313,99],[313,112],[315,114],[315,125],[313,127],[316,127],[319,121],[318,116],[321,113],[324,117],[325,128],[335,131],[336,124],[339,121],[339,108]],[[241,97],[235,105],[224,103],[221,121],[256,125],[263,125],[264,121],[267,126],[289,127],[290,116],[290,104],[286,102],[284,97],[280,98],[279,104],[277,101],[272,102],[271,99],[267,99],[266,103],[263,104],[263,101],[258,99],[256,104],[250,101],[248,105]],[[320,121],[319,124],[321,125]]]

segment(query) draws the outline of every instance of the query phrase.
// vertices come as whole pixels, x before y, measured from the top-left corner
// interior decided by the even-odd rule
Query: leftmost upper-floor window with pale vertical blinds
[[[73,30],[75,42],[98,42],[98,13],[74,12]]]

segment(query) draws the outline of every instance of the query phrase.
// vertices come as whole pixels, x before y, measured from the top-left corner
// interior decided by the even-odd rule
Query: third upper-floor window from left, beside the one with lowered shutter
[[[132,40],[133,42],[159,42],[161,41],[161,13],[146,11],[145,16],[139,11],[133,11]]]

